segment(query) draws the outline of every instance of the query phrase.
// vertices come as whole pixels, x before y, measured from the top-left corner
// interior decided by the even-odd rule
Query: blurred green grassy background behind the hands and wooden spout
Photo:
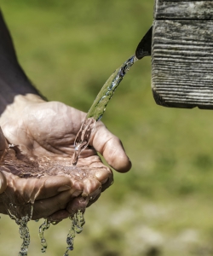
[[[32,82],[49,100],[87,112],[152,25],[153,2],[1,0],[1,8]],[[114,172],[112,187],[87,209],[73,256],[213,255],[213,113],[157,106],[150,81],[146,57],[107,107],[102,121],[133,167]],[[39,224],[29,224],[32,256],[42,254]],[[63,255],[69,224],[47,231],[46,255]],[[1,256],[17,255],[18,226],[3,216],[0,230]]]

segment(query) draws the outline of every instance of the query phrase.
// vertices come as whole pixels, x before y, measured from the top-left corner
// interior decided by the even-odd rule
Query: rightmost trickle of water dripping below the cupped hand
[[[70,219],[72,224],[66,237],[67,247],[66,252],[63,256],[69,256],[69,252],[74,249],[74,238],[76,234],[80,234],[83,231],[83,224],[85,224],[83,212],[81,212],[80,210],[78,210],[78,212],[74,214],[73,218]]]

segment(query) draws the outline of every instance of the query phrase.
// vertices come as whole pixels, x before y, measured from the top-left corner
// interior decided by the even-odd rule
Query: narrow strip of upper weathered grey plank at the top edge
[[[156,0],[156,20],[213,20],[213,1]]]

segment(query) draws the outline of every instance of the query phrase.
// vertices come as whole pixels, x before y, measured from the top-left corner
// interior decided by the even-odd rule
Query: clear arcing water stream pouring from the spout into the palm
[[[132,67],[135,61],[138,61],[138,59],[135,55],[132,55],[121,67],[118,67],[109,79],[107,79],[107,82],[103,85],[99,94],[96,96],[95,102],[93,102],[91,108],[89,108],[89,112],[87,113],[86,118],[84,119],[75,138],[75,152],[72,160],[73,166],[77,165],[79,155],[83,149],[88,146],[96,121],[101,119],[115,90],[118,88],[118,85],[124,79],[124,75],[128,73],[130,67]]]

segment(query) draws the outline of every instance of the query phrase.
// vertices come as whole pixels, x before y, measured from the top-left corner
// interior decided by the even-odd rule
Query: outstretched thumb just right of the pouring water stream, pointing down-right
[[[100,152],[109,166],[112,166],[118,172],[128,172],[131,168],[131,162],[124,147],[118,137],[107,130],[101,122],[97,122],[95,134],[91,138],[91,144]]]

